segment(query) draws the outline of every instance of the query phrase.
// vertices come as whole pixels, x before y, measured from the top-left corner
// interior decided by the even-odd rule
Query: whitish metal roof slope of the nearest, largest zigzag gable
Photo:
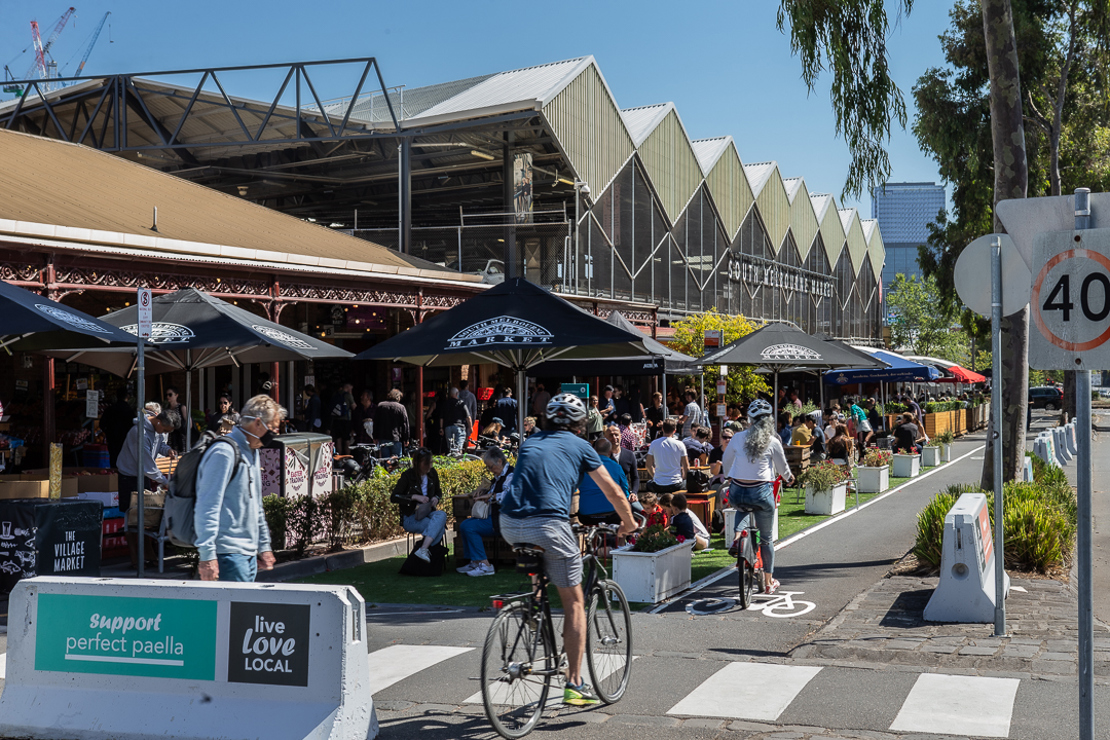
[[[461,93],[433,105],[412,120],[426,120],[480,112],[486,109],[517,107],[518,110],[541,109],[565,84],[592,64],[593,57],[568,59],[551,64],[527,67],[494,74]]]

